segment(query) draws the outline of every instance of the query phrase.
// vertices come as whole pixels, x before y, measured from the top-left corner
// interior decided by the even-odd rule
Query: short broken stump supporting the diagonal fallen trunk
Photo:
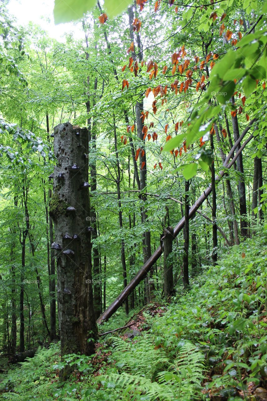
[[[173,227],[164,229],[163,250],[164,250],[164,295],[169,298],[173,291],[173,267],[170,256],[172,254]]]

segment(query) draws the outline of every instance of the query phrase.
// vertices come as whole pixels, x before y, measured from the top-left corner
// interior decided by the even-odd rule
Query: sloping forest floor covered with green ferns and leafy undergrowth
[[[0,398],[9,400],[267,401],[267,238],[225,250],[202,266],[170,304],[155,300],[101,326],[92,356],[67,356],[59,344],[6,369]],[[160,297],[159,297],[160,298]],[[134,315],[134,316],[133,316]],[[73,367],[69,382],[59,371]]]

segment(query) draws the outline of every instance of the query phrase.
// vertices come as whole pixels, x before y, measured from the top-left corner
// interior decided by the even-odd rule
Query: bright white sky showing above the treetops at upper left
[[[8,10],[15,16],[18,24],[26,26],[30,21],[47,30],[49,36],[64,41],[64,33],[73,31],[74,37],[83,38],[84,34],[79,26],[73,23],[54,24],[54,0],[10,0]]]

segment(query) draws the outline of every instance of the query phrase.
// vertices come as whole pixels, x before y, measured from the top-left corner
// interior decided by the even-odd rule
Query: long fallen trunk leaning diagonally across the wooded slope
[[[241,154],[242,150],[245,148],[245,146],[249,143],[249,141],[253,138],[253,134],[249,136],[249,138],[243,143],[243,145],[239,148],[239,150],[236,152],[235,156],[233,157],[235,153],[235,149],[237,146],[239,146],[240,142],[244,138],[244,136],[247,134],[249,131],[249,128],[252,126],[252,124],[256,121],[256,119],[252,119],[247,128],[243,131],[239,139],[235,142],[233,147],[231,148],[227,158],[225,159],[225,162],[223,163],[223,170],[219,172],[219,174],[215,177],[216,182],[220,181],[220,179],[225,175],[225,172],[233,166],[235,163],[235,160],[237,160],[238,156]],[[232,158],[232,160],[231,160]],[[231,162],[229,163],[229,161]],[[191,219],[198,208],[202,205],[202,203],[206,200],[208,195],[211,193],[211,185],[209,185],[206,190],[200,195],[200,197],[197,199],[197,201],[190,207],[189,210],[189,219]],[[184,217],[179,221],[179,223],[176,225],[174,228],[174,235],[173,238],[175,238],[178,233],[182,230],[184,227]],[[158,247],[156,251],[151,255],[151,257],[146,261],[146,263],[142,266],[142,268],[138,271],[138,273],[135,275],[133,279],[129,282],[129,284],[123,289],[123,291],[119,294],[119,296],[112,302],[112,304],[105,310],[105,312],[99,316],[97,323],[101,324],[104,321],[107,321],[113,313],[116,312],[116,310],[121,306],[125,298],[131,294],[131,292],[138,286],[138,284],[146,277],[146,274],[148,271],[150,271],[151,267],[154,265],[154,263],[158,260],[160,255],[162,255],[162,247]]]

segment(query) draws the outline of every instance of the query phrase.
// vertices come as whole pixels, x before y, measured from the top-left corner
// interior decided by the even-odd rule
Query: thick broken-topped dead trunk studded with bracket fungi
[[[57,304],[61,356],[90,355],[97,337],[93,310],[91,231],[88,183],[88,130],[69,123],[54,130],[53,195],[50,215],[55,225]],[[63,378],[68,373],[64,371]]]

